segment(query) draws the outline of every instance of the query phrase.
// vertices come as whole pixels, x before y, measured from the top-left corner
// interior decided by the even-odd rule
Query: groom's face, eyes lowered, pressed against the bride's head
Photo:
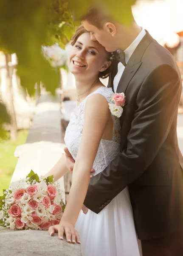
[[[118,47],[115,46],[115,39],[109,32],[104,29],[98,29],[96,26],[88,23],[86,20],[82,22],[84,28],[90,32],[92,41],[98,41],[107,52],[114,52]]]

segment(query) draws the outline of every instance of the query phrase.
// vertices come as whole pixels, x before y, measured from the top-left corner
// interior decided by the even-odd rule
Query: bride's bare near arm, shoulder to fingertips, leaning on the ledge
[[[60,239],[65,233],[67,241],[75,240],[77,233],[74,226],[87,193],[90,171],[109,118],[110,110],[104,96],[100,94],[90,96],[85,105],[82,139],[73,169],[68,203],[60,224],[49,229],[50,234],[58,231]]]

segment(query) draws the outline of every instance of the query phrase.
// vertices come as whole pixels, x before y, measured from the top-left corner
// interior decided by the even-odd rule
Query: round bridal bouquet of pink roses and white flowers
[[[65,208],[59,185],[32,170],[0,197],[0,226],[11,229],[47,230],[59,224]]]

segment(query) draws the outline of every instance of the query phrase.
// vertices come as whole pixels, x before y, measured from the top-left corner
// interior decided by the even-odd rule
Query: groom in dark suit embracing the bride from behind
[[[84,205],[99,213],[128,186],[143,256],[182,256],[183,169],[177,143],[182,86],[177,64],[135,20],[127,27],[91,8],[83,25],[108,52],[118,49],[109,87],[126,96],[121,152],[90,180]]]

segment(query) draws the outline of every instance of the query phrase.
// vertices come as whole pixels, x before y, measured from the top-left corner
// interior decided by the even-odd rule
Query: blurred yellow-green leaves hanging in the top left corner
[[[55,92],[59,84],[56,73],[41,53],[42,45],[58,42],[65,47],[74,32],[74,23],[66,0],[0,1],[0,49],[16,52],[21,84],[34,93],[42,81]]]

